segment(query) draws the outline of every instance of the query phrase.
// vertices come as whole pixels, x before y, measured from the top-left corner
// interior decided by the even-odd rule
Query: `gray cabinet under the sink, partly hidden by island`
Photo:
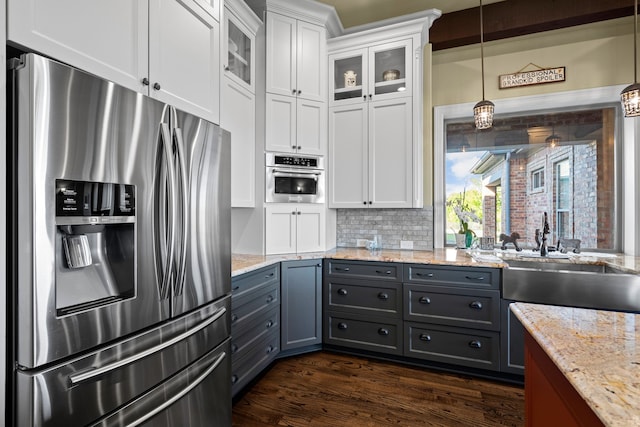
[[[509,310],[515,301],[501,300],[502,332],[500,334],[500,370],[510,374],[524,375],[524,326]]]

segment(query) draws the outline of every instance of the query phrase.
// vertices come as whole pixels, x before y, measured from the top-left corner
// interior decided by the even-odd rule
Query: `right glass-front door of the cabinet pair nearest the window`
[[[369,48],[370,88],[373,100],[413,93],[411,40]]]

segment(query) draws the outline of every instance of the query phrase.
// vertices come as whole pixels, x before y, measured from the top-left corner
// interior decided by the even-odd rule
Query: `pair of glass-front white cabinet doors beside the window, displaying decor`
[[[330,56],[330,104],[413,95],[412,40]]]

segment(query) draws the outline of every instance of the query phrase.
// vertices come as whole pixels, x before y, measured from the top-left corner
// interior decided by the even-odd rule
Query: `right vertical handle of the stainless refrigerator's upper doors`
[[[182,229],[180,230],[180,235],[182,239],[178,244],[178,250],[180,253],[178,254],[179,258],[177,260],[177,277],[174,283],[174,292],[175,295],[182,295],[182,290],[184,289],[184,281],[186,275],[186,267],[187,267],[187,233],[189,232],[189,182],[187,176],[187,167],[185,164],[185,153],[184,153],[184,139],[182,137],[182,129],[174,128],[173,134],[175,137],[176,143],[176,169],[178,171],[177,180],[180,182],[179,186],[179,202],[178,208],[182,210]]]

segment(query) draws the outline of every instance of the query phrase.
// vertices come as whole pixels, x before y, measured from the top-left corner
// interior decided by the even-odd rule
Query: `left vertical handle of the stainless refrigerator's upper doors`
[[[163,191],[164,188],[162,187],[164,183],[160,182],[160,187],[156,186],[156,192],[159,193],[156,194],[156,197],[160,198],[160,206],[158,206],[157,209],[160,214],[163,215],[159,221],[158,228],[156,228],[156,233],[160,234],[158,239],[161,242],[159,248],[161,260],[160,270],[162,274],[160,278],[160,298],[167,299],[169,298],[171,282],[173,280],[177,215],[175,200],[176,177],[172,162],[173,149],[171,147],[171,132],[169,125],[166,123],[160,124],[160,141],[162,144],[162,153],[158,167],[163,172],[160,174],[160,179],[166,183],[165,180],[168,175],[168,187],[166,188],[165,196],[165,191]],[[164,214],[167,215],[167,218],[164,217]],[[165,221],[162,219],[165,219]]]

